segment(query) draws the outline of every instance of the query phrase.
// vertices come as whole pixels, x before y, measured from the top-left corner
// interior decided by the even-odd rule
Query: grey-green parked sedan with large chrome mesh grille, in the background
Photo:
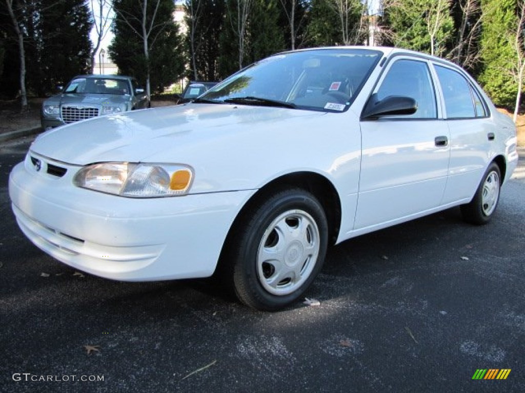
[[[60,94],[44,101],[42,128],[91,117],[148,108],[150,101],[137,81],[123,75],[78,75]]]

